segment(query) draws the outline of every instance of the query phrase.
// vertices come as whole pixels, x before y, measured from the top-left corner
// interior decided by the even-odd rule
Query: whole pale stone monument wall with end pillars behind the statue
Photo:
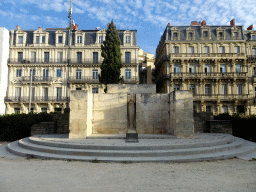
[[[134,85],[136,89],[130,89],[133,90],[131,93],[130,85],[126,89],[118,89],[121,85],[111,86],[110,90],[120,92],[91,94],[88,91],[71,91],[69,138],[125,134],[128,128],[134,128],[138,134],[172,133],[178,138],[193,137],[190,91],[156,94],[151,93],[155,85]],[[134,91],[143,89],[148,93]],[[130,105],[134,105],[135,110],[130,111]]]

